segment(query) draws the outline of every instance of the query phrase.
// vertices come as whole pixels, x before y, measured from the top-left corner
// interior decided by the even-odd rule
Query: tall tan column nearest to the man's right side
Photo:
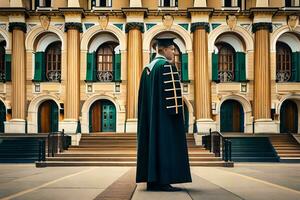
[[[209,24],[192,23],[194,78],[195,78],[195,117],[198,131],[208,132],[212,128],[211,87],[208,74],[208,41]]]

